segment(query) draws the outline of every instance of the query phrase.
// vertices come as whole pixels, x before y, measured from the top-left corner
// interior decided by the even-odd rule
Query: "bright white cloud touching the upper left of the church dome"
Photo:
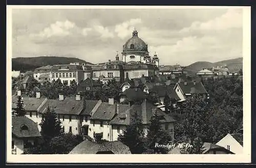
[[[141,23],[141,19],[130,19],[128,21],[122,22],[115,26],[115,32],[117,36],[121,39],[129,36],[131,34],[132,29],[138,24]]]

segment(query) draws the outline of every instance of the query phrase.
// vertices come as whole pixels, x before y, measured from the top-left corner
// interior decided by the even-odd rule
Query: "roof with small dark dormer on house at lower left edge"
[[[41,136],[37,124],[26,116],[12,116],[12,134],[19,138]]]

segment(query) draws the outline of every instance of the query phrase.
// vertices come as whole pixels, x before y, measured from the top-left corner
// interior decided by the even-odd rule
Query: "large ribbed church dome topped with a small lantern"
[[[123,45],[123,52],[147,52],[147,44],[133,31],[133,36]]]

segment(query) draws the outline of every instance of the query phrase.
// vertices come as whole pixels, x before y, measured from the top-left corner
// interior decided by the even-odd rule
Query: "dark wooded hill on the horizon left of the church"
[[[52,56],[41,56],[41,57],[30,57],[30,58],[12,58],[12,70],[20,70],[22,72],[28,70],[34,70],[40,66],[56,65],[56,64],[69,64],[70,62],[80,62],[92,64],[90,62],[72,58],[72,57],[52,57]]]

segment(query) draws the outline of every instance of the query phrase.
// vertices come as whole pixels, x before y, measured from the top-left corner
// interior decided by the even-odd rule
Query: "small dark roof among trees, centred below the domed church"
[[[138,100],[147,97],[146,93],[143,92],[140,88],[131,87],[121,92],[120,95],[124,95],[128,100]]]

